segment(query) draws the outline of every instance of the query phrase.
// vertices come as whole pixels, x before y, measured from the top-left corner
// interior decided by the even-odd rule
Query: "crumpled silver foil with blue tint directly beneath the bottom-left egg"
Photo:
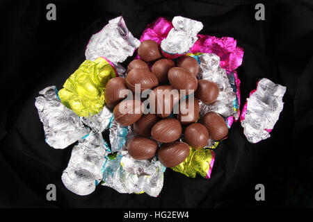
[[[163,188],[163,172],[166,167],[163,167],[161,162],[153,163],[154,172],[150,175],[129,173],[125,171],[121,162],[125,163],[123,155],[118,154],[114,160],[108,160],[104,168],[102,185],[111,187],[120,193],[147,193],[150,196],[158,196]],[[133,169],[137,168],[136,165],[140,162],[133,162]],[[142,166],[141,168],[143,168]]]

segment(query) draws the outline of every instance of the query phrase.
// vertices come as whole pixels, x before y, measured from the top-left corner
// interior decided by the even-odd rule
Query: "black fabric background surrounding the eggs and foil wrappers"
[[[47,3],[56,21],[47,21]],[[313,3],[265,3],[266,20],[255,20],[259,1],[7,1],[1,3],[0,207],[313,207]],[[250,144],[240,123],[216,148],[211,179],[166,170],[158,198],[119,194],[97,186],[88,196],[67,190],[61,174],[72,146],[45,143],[35,97],[49,85],[62,88],[83,62],[89,38],[123,15],[135,37],[158,16],[182,15],[204,24],[200,34],[230,36],[244,49],[241,108],[257,80],[287,86],[284,110],[271,137]],[[123,65],[131,60],[127,60]],[[3,103],[4,101],[4,103]],[[54,183],[57,200],[46,200]],[[255,200],[255,185],[265,201]]]

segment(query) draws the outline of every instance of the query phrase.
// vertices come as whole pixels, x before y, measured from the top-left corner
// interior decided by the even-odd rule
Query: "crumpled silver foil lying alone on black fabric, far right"
[[[241,112],[243,134],[252,144],[271,137],[275,123],[280,117],[284,103],[282,97],[286,87],[275,84],[267,78],[257,83],[257,89],[250,92],[250,97]]]

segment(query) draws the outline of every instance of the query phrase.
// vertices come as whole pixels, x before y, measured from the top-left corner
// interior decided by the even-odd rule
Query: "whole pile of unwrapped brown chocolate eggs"
[[[120,126],[132,126],[136,134],[127,143],[131,157],[147,160],[157,155],[165,167],[175,167],[188,157],[189,146],[202,149],[207,146],[209,137],[219,141],[227,136],[227,124],[219,114],[208,112],[199,118],[199,101],[214,103],[219,89],[216,83],[197,79],[200,65],[195,58],[182,56],[175,65],[174,60],[162,58],[159,45],[152,40],[141,43],[138,55],[141,59],[129,63],[126,79],[111,78],[104,93],[106,105],[114,109],[115,121]],[[140,84],[138,89],[136,84]],[[132,95],[135,90],[152,89],[147,101],[150,106],[154,105],[155,114],[143,114],[143,100],[136,96],[127,99],[125,89],[130,89]],[[194,92],[193,109],[188,108],[188,98],[183,99],[179,94],[181,89],[185,89],[188,96]],[[170,92],[170,96],[164,96]],[[159,99],[159,95],[163,99]],[[175,105],[179,112],[171,114]],[[125,109],[130,112],[121,112]]]

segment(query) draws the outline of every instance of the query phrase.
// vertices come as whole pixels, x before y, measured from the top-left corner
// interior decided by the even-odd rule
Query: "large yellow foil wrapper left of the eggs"
[[[58,92],[63,105],[79,117],[98,114],[104,107],[104,87],[115,77],[113,65],[99,57],[95,62],[85,60]]]

